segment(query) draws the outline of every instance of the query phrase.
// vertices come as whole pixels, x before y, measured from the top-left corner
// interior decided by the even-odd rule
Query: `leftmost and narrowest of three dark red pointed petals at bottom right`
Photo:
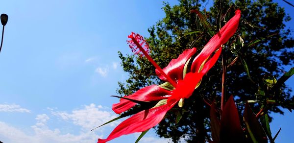
[[[220,125],[220,120],[217,117],[214,101],[211,103],[211,108],[210,108],[210,128],[211,128],[211,138],[213,142],[220,143],[221,125]]]

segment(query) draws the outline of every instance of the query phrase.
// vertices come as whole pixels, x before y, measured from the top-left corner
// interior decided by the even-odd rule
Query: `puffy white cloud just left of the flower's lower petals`
[[[53,115],[60,117],[63,120],[73,121],[73,124],[79,125],[86,130],[91,130],[94,127],[101,125],[117,116],[113,113],[103,111],[101,105],[96,106],[95,104],[85,105],[84,109],[73,110],[72,113],[67,112],[52,112]],[[114,126],[115,123],[109,125]]]

